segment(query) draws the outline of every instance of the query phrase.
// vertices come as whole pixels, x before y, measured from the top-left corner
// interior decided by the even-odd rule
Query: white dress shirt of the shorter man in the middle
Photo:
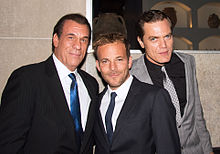
[[[124,101],[127,97],[132,80],[133,80],[133,76],[130,75],[130,77],[116,90],[112,90],[108,85],[108,90],[104,94],[102,101],[101,101],[100,108],[99,108],[100,112],[101,112],[102,121],[103,121],[105,130],[106,130],[105,114],[106,114],[106,112],[108,110],[108,106],[110,104],[111,92],[116,92],[116,94],[117,94],[117,96],[115,97],[115,107],[114,107],[114,111],[112,114],[112,127],[113,127],[113,131],[115,131],[116,122],[117,122],[118,116],[121,112]]]

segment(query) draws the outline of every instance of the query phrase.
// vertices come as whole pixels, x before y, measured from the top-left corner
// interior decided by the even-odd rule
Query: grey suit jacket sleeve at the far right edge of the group
[[[203,109],[200,102],[199,90],[198,90],[198,83],[196,79],[196,65],[195,59],[192,59],[192,70],[193,70],[193,78],[194,78],[194,92],[195,92],[195,123],[196,123],[196,130],[198,131],[198,135],[201,141],[201,145],[203,147],[203,151],[205,154],[209,154],[212,152],[212,144],[209,132],[206,128],[206,122],[203,115]]]

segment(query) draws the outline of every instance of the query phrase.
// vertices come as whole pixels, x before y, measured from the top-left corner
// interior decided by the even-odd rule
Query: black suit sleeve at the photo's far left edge
[[[0,106],[0,152],[18,153],[25,144],[33,113],[31,83],[22,71],[10,76]]]

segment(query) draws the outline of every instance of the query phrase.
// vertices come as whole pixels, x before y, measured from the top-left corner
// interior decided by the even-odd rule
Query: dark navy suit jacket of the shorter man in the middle
[[[106,90],[99,96],[99,106]],[[175,108],[164,89],[134,77],[116,123],[112,144],[108,142],[99,109],[97,113],[96,154],[180,154]]]

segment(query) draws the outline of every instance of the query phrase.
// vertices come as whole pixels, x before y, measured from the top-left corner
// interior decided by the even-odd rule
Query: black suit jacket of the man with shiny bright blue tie
[[[78,69],[91,99],[98,83]],[[80,153],[90,154],[95,104],[91,102]],[[10,76],[0,107],[0,153],[76,154],[74,123],[52,56]]]

